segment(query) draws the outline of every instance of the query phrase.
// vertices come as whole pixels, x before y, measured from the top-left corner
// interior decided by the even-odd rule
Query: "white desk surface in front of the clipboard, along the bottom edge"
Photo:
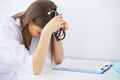
[[[20,80],[120,80],[120,75],[116,75],[111,69],[104,74],[67,72],[49,69],[46,73],[39,76],[23,74],[20,76]]]

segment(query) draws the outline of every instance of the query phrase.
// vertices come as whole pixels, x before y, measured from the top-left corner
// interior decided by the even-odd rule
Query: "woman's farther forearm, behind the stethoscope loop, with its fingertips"
[[[64,22],[64,28],[65,30],[68,29],[67,22]],[[62,41],[56,41],[55,36],[52,35],[51,39],[51,61],[55,64],[62,63],[64,58],[64,50],[63,50],[63,44]]]

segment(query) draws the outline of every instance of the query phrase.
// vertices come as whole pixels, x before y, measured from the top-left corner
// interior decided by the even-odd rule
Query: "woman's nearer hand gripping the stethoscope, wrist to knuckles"
[[[43,30],[47,30],[47,32],[53,33],[62,27],[64,28],[64,26],[65,22],[63,21],[62,15],[57,15],[46,24]]]

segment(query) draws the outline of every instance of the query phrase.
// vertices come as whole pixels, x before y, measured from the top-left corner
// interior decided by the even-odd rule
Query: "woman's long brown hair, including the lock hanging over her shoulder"
[[[28,50],[32,39],[28,30],[28,23],[33,21],[37,26],[43,29],[46,23],[51,19],[48,12],[53,9],[56,9],[54,2],[50,0],[37,0],[33,2],[25,12],[13,16],[14,19],[20,18],[23,42]]]

